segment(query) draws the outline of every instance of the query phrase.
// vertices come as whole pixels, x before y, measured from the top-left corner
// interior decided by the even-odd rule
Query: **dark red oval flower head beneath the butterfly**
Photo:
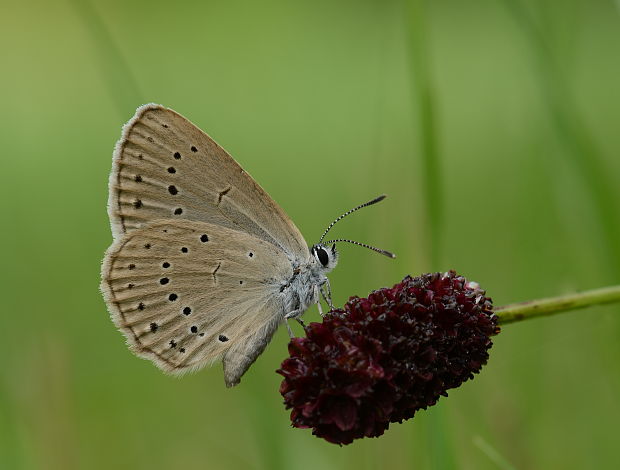
[[[277,371],[292,425],[349,444],[473,378],[499,328],[485,291],[450,271],[351,297],[305,331]]]

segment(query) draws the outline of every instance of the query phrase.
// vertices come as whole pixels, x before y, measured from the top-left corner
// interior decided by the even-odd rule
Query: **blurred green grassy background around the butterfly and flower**
[[[144,102],[187,116],[309,243],[337,304],[456,269],[496,305],[620,282],[613,1],[0,0],[1,469],[618,468],[620,310],[507,326],[379,439],[292,429],[281,329],[227,390],[137,359],[98,291],[107,181]],[[316,309],[307,319],[318,320]]]

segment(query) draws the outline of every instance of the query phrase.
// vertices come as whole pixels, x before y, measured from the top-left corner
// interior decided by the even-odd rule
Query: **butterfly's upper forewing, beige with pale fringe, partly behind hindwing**
[[[213,139],[176,112],[144,105],[114,152],[108,213],[114,238],[158,219],[247,232],[305,259],[307,244],[269,195]]]

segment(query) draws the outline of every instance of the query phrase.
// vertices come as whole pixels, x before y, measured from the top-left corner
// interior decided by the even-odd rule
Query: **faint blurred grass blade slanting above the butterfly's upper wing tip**
[[[70,3],[93,40],[96,57],[110,97],[121,116],[126,118],[137,106],[146,102],[131,67],[101,16],[88,0],[71,0]]]

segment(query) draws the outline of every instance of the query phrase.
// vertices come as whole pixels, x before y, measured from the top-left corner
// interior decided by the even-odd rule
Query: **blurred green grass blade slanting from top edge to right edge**
[[[592,199],[605,238],[605,248],[609,254],[609,272],[616,282],[620,281],[620,211],[613,179],[602,163],[603,155],[577,109],[566,77],[558,63],[558,54],[554,53],[544,30],[535,23],[532,15],[519,0],[502,1],[528,41],[536,64],[541,93],[556,132],[566,149],[565,155],[571,160]]]

